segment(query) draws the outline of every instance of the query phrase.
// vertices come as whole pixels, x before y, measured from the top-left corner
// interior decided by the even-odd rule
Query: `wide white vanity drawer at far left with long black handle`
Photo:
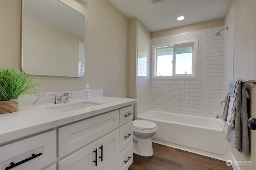
[[[11,162],[13,166],[20,164],[14,170],[38,170],[56,160],[56,130],[5,145],[0,150],[1,170],[11,166]]]

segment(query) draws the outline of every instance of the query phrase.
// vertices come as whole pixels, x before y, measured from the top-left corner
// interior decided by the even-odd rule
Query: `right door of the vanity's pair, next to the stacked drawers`
[[[97,141],[97,170],[118,170],[119,131],[113,131]]]

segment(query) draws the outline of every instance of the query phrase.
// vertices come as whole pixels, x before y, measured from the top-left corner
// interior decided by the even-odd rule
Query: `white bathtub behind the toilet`
[[[156,123],[158,131],[152,141],[177,149],[229,160],[231,147],[222,133],[224,121],[216,118],[147,111],[137,119]]]

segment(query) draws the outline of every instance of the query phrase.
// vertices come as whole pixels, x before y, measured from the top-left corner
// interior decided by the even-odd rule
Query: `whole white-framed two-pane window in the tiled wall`
[[[152,78],[197,78],[198,39],[152,46]]]

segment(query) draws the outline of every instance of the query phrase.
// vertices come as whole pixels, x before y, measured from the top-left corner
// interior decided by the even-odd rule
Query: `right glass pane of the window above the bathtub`
[[[192,47],[176,49],[176,74],[192,74]]]

